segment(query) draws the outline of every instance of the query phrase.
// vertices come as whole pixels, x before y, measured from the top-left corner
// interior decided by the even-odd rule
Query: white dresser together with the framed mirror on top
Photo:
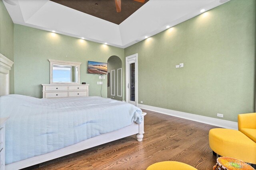
[[[43,98],[89,96],[89,84],[80,84],[80,64],[72,61],[50,61],[50,84],[42,84]]]

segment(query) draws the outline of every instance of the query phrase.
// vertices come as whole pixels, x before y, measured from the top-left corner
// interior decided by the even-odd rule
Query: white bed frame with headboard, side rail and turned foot
[[[0,54],[1,96],[9,94],[9,70],[11,69],[12,64],[13,64],[12,61],[10,61],[6,57],[4,57],[2,54]],[[2,84],[2,82],[4,82],[4,84]],[[135,134],[137,137],[137,141],[141,142],[144,134],[144,116],[145,115],[146,113],[143,112],[142,113],[143,120],[140,125],[134,122],[132,123],[132,125],[124,127],[117,131],[112,131],[110,133],[98,135],[96,137],[87,139],[80,143],[76,143],[74,145],[70,145],[68,147],[65,147],[59,150],[55,150],[53,152],[49,152],[39,156],[34,156],[32,158],[28,158],[25,160],[20,160],[18,162],[14,162],[6,165],[5,168],[6,170],[18,170],[21,168],[26,168],[28,166],[36,165],[42,162],[46,162],[48,160],[52,160],[55,158],[59,158],[61,156],[79,152],[81,150],[96,147],[98,145],[102,145],[104,143],[115,141],[117,139],[122,139],[124,137],[128,137]]]

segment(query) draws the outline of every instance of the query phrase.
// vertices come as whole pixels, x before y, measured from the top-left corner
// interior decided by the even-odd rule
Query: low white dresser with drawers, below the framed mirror
[[[89,96],[89,84],[42,84],[43,98]]]

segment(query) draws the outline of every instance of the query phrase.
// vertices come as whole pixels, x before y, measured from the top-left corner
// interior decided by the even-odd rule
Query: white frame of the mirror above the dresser
[[[61,61],[61,60],[52,60],[50,61],[50,84],[80,84],[80,65],[82,63],[73,62],[73,61]],[[78,82],[53,82],[52,81],[52,67],[53,64],[60,64],[60,65],[70,65],[70,66],[77,66],[78,70]]]

